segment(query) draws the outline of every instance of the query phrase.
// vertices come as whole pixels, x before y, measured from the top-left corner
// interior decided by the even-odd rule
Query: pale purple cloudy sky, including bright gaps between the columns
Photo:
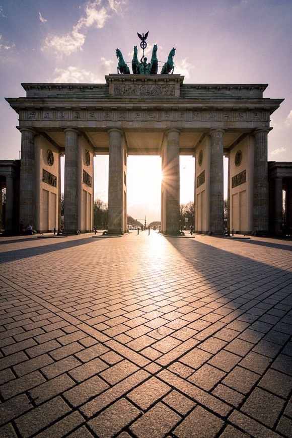
[[[104,84],[117,71],[116,48],[131,61],[137,32],[148,31],[159,60],[176,48],[184,84],[268,84],[265,98],[284,98],[271,116],[268,159],[292,161],[291,0],[0,0],[0,160],[19,158],[18,116],[4,98],[25,96],[21,83]],[[107,163],[95,158],[95,198],[105,202]],[[129,156],[127,172],[128,214],[160,220],[160,158]],[[180,157],[180,174],[187,203],[193,158]]]

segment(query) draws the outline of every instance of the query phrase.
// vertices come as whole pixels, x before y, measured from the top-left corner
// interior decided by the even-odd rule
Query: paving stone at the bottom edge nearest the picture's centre
[[[163,403],[157,403],[131,426],[137,438],[161,438],[166,436],[180,421],[181,417]]]

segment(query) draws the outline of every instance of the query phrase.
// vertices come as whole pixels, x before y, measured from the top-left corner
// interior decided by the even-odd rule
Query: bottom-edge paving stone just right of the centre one
[[[222,419],[216,417],[201,406],[197,406],[184,418],[182,423],[175,428],[174,433],[178,438],[212,438],[218,435],[223,426],[224,421]]]

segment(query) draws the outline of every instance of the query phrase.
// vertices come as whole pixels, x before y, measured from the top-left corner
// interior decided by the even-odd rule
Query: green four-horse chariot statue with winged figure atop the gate
[[[138,60],[138,49],[137,46],[134,46],[134,54],[132,59],[132,72],[134,75],[157,75],[158,72],[158,59],[157,59],[157,44],[154,44],[153,50],[152,50],[152,57],[151,61],[147,62],[147,57],[144,56],[144,49],[147,47],[147,42],[145,39],[148,37],[149,32],[140,35],[137,34],[138,37],[141,40],[140,47],[143,49],[143,55],[140,59],[140,62]],[[118,73],[121,75],[129,75],[130,69],[127,66],[127,63],[124,61],[122,52],[119,49],[116,49],[116,55],[119,60],[118,63]],[[174,70],[174,63],[173,63],[173,57],[175,55],[175,48],[170,51],[168,55],[167,62],[162,67],[161,75],[168,75],[169,73],[173,74]]]

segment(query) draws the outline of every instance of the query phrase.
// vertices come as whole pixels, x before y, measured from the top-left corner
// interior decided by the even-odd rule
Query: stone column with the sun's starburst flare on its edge
[[[176,129],[167,132],[163,179],[165,193],[165,234],[179,234],[179,135]]]

